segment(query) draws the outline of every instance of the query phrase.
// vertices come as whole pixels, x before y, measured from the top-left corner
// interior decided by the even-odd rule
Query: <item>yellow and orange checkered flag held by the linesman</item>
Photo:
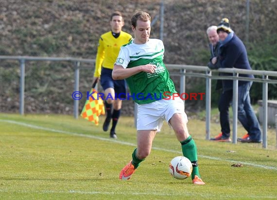
[[[87,119],[88,121],[94,122],[95,125],[99,124],[99,116],[105,115],[105,107],[102,98],[99,98],[97,95],[97,91],[94,89],[95,83],[93,83],[92,88],[89,92],[91,96],[89,96],[88,100],[85,103],[83,111],[81,112],[81,117]]]

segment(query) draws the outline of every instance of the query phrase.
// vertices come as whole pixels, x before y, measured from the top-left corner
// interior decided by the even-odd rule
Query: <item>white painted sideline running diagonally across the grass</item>
[[[33,128],[33,129],[50,131],[50,132],[54,132],[54,133],[64,133],[64,134],[70,134],[70,135],[75,135],[75,136],[81,136],[81,137],[88,137],[88,138],[93,138],[93,139],[98,139],[98,140],[104,140],[104,141],[109,141],[109,142],[113,142],[113,143],[119,143],[119,144],[122,144],[122,145],[129,145],[129,146],[133,146],[133,147],[137,146],[136,144],[129,143],[129,142],[123,142],[123,141],[120,141],[118,139],[115,140],[115,139],[109,139],[109,138],[87,135],[87,134],[82,134],[82,133],[61,131],[61,130],[57,130],[57,129],[50,129],[50,128],[46,128],[46,127],[42,127],[42,126],[35,126],[35,125],[32,125],[32,124],[27,124],[27,123],[13,121],[13,120],[0,119],[0,122],[7,122],[7,123],[11,123],[11,124],[17,124],[17,125],[21,125],[21,126],[25,126],[25,127],[30,127],[30,128]],[[168,149],[163,149],[163,148],[158,148],[158,147],[152,147],[152,149],[167,151],[167,152],[180,153],[180,151],[168,150]],[[219,160],[219,161],[226,161],[226,162],[232,162],[232,163],[234,163],[234,162],[235,163],[242,163],[244,165],[249,165],[249,166],[253,166],[253,167],[260,167],[260,168],[265,168],[265,169],[277,170],[277,167],[259,165],[259,164],[255,164],[255,163],[247,163],[247,162],[243,162],[243,161],[222,159],[222,158],[212,157],[212,156],[207,156],[207,155],[198,155],[198,157],[207,158],[207,159],[210,159],[210,160]]]

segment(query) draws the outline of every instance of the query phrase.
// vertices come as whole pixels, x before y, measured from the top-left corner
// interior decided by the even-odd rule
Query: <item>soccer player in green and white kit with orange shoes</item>
[[[121,170],[119,178],[131,178],[150,154],[154,137],[166,120],[181,143],[183,155],[192,163],[192,183],[203,185],[197,164],[197,148],[187,129],[184,102],[179,97],[168,98],[169,93],[173,95],[176,91],[163,63],[163,42],[149,39],[150,20],[149,14],[143,11],[133,15],[131,23],[135,39],[121,47],[112,72],[114,80],[126,79],[134,101],[138,103],[138,148],[133,151],[132,160]]]

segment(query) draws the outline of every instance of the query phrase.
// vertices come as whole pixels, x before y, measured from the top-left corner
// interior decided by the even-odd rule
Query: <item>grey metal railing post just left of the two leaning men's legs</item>
[[[210,139],[211,71],[206,71],[206,140]]]

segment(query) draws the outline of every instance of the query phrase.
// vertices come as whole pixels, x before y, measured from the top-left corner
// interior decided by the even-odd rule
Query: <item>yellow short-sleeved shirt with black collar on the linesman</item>
[[[96,55],[95,77],[100,77],[101,67],[113,69],[121,46],[127,44],[131,39],[132,35],[123,31],[117,38],[113,36],[111,31],[101,35]]]

